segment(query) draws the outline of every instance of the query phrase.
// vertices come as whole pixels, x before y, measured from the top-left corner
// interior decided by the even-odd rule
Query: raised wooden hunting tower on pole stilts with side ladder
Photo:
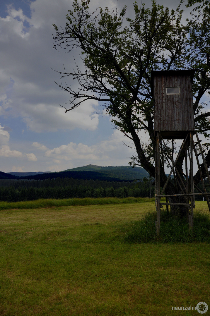
[[[151,94],[154,100],[154,136],[156,140],[155,149],[155,201],[157,210],[156,231],[160,230],[160,208],[163,205],[173,205],[186,210],[189,229],[193,229],[193,209],[195,207],[195,195],[203,195],[207,199],[210,211],[210,199],[206,191],[205,178],[210,176],[205,161],[201,141],[195,131],[192,82],[195,70],[169,70],[151,72]],[[197,142],[194,143],[193,136],[196,135]],[[169,144],[166,145],[164,139],[172,140],[172,151]],[[174,139],[183,139],[182,146],[174,161]],[[199,146],[196,149],[196,146]],[[200,190],[193,181],[193,150],[195,152],[198,170],[201,177],[203,191]],[[197,153],[199,151],[199,153]],[[185,172],[178,170],[176,163],[180,155],[185,157]],[[198,156],[201,155],[201,164]],[[171,166],[168,178],[165,177],[164,163]],[[189,175],[188,175],[189,164]],[[169,171],[167,171],[168,173]],[[172,176],[173,173],[173,176]],[[173,182],[177,194],[164,194],[167,184],[173,177]],[[162,181],[162,190],[160,182]],[[194,186],[200,193],[194,193]],[[161,197],[166,198],[165,203],[161,203]],[[173,197],[173,198],[172,198]],[[168,202],[168,198],[170,201]],[[176,199],[176,202],[174,200]],[[184,199],[184,200],[183,200]],[[190,203],[189,203],[190,202]]]

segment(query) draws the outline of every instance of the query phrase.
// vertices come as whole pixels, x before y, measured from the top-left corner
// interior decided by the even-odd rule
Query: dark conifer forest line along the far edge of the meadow
[[[151,185],[151,197],[155,188]],[[39,198],[150,197],[150,184],[143,181],[102,181],[73,178],[46,180],[0,180],[0,201],[18,202]]]

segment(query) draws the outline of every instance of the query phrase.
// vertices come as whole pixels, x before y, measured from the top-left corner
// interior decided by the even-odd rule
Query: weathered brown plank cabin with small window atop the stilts
[[[195,70],[151,72],[154,131],[164,139],[183,139],[194,131],[192,82]]]

